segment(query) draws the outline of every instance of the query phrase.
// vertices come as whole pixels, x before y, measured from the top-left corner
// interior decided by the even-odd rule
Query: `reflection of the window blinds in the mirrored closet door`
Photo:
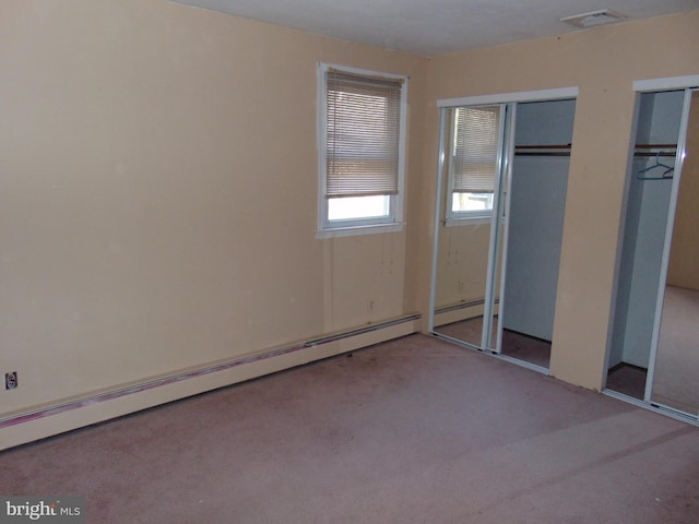
[[[491,193],[499,148],[500,106],[460,107],[454,114],[454,193]]]

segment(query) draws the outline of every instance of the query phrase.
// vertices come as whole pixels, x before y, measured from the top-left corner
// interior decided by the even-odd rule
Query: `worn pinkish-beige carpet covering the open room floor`
[[[699,428],[424,335],[0,453],[90,523],[695,523]]]

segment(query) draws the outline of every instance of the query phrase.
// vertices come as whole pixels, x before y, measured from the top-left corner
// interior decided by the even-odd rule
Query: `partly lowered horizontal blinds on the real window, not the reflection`
[[[398,193],[402,80],[327,72],[325,198]]]

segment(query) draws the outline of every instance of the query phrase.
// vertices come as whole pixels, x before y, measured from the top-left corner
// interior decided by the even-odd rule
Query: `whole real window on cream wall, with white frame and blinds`
[[[318,236],[402,227],[407,79],[320,64]]]

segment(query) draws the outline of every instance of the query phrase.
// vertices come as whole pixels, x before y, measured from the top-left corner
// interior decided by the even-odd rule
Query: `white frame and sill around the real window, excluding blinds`
[[[401,88],[400,109],[400,136],[399,136],[399,165],[398,165],[398,193],[388,195],[389,214],[387,216],[355,218],[347,221],[328,219],[328,200],[325,198],[327,182],[327,73],[330,69],[372,78],[399,79],[403,81]],[[332,63],[320,62],[318,66],[318,112],[317,112],[317,142],[318,142],[318,229],[316,238],[344,237],[352,235],[366,235],[377,233],[392,233],[403,229],[403,201],[405,195],[405,151],[406,151],[406,119],[407,119],[407,81],[408,78],[401,74],[391,74],[364,69],[348,68]]]

